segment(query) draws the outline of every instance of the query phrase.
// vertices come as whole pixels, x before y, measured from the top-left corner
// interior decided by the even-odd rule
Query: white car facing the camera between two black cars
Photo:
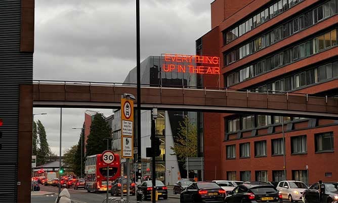
[[[302,200],[302,194],[304,190],[308,189],[308,186],[301,181],[280,181],[276,188],[283,199],[293,202]]]

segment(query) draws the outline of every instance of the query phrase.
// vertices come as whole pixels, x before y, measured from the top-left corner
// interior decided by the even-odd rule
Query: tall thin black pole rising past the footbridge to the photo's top
[[[137,65],[137,181],[141,185],[141,62],[140,62],[140,0],[136,0],[136,65]]]

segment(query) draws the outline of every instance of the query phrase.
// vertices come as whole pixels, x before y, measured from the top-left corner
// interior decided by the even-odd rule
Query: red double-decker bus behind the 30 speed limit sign
[[[114,161],[109,165],[108,190],[120,173],[120,157],[114,154]],[[86,157],[85,176],[88,192],[107,191],[107,164],[103,163],[101,154]]]

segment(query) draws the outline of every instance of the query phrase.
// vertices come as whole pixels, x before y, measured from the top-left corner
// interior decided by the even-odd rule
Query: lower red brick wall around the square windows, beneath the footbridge
[[[284,127],[285,128],[285,127]],[[286,177],[292,178],[292,170],[305,170],[309,166],[309,183],[318,180],[335,181],[338,178],[338,154],[333,153],[315,153],[314,134],[322,132],[332,132],[338,134],[338,126],[315,128],[310,130],[301,130],[285,133],[286,148]],[[307,135],[308,153],[302,155],[291,155],[290,137],[298,135]],[[255,171],[268,171],[268,180],[272,181],[272,170],[283,170],[283,156],[271,155],[271,139],[282,138],[282,134],[254,137],[227,141],[222,144],[221,153],[226,154],[226,145],[236,144],[236,159],[223,159],[223,177],[227,178],[227,171],[236,171],[236,179],[240,179],[239,171],[251,171],[251,181],[255,181]],[[335,136],[336,138],[336,136]],[[255,141],[267,140],[267,157],[255,158]],[[250,158],[239,158],[239,144],[250,142]],[[334,149],[338,149],[338,141],[334,142]],[[323,167],[320,167],[323,166]],[[331,172],[332,177],[325,177],[325,172]]]

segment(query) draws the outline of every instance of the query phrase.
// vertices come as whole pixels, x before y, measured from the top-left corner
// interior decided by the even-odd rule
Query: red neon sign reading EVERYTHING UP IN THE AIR
[[[220,74],[220,57],[181,54],[164,54],[164,72]]]

